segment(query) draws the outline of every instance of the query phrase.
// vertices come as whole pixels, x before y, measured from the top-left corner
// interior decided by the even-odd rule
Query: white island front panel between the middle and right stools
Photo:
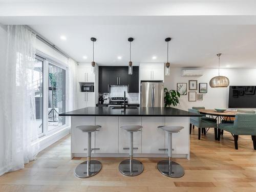
[[[142,153],[164,153],[159,151],[159,148],[165,148],[165,134],[157,128],[164,125],[164,119],[164,117],[142,117]]]

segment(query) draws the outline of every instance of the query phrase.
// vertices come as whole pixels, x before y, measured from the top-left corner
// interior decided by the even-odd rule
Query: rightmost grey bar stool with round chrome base
[[[184,169],[183,167],[172,161],[172,134],[178,133],[180,130],[182,130],[183,126],[158,126],[159,129],[165,131],[168,133],[168,160],[162,160],[157,163],[157,168],[159,172],[161,172],[163,175],[172,177],[172,178],[179,178],[184,175]]]

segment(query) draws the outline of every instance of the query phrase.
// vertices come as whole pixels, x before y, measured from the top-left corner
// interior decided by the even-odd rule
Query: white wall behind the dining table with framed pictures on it
[[[228,92],[229,88],[211,88],[209,81],[212,77],[218,75],[218,69],[202,69],[203,76],[201,77],[182,77],[181,68],[171,68],[170,76],[165,76],[164,87],[167,89],[177,90],[178,82],[187,83],[188,80],[198,80],[200,82],[208,83],[208,93],[203,94],[202,101],[188,101],[188,94],[180,97],[179,109],[187,110],[192,106],[205,106],[206,109],[214,108],[228,108]],[[220,75],[224,75],[229,78],[230,86],[255,86],[256,85],[256,69],[221,69]],[[199,93],[199,90],[197,90]]]

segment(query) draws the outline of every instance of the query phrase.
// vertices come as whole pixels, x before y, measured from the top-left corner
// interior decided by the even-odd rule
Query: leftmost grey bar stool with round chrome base
[[[88,178],[99,173],[102,164],[97,160],[91,160],[92,150],[99,150],[98,148],[92,148],[92,132],[99,131],[100,125],[81,125],[77,126],[83,133],[87,133],[87,161],[79,164],[75,169],[75,175],[79,178]]]

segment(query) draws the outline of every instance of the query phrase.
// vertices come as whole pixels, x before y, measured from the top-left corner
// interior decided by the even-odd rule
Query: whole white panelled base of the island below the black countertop
[[[158,126],[184,126],[179,133],[173,134],[173,154],[189,158],[189,129],[188,117],[123,117],[123,116],[82,116],[72,117],[71,153],[75,157],[86,156],[87,133],[77,129],[78,125],[101,125],[100,131],[92,133],[92,148],[100,148],[92,153],[97,154],[124,154],[129,156],[130,147],[129,132],[120,128],[122,125],[142,125],[142,131],[134,132],[133,144],[137,147],[135,154],[163,154],[167,151],[159,151],[159,148],[167,148],[168,134],[158,129]],[[164,154],[165,153],[165,154]],[[83,154],[83,155],[81,155]],[[106,155],[107,156],[107,155]],[[112,155],[111,155],[112,156]]]

